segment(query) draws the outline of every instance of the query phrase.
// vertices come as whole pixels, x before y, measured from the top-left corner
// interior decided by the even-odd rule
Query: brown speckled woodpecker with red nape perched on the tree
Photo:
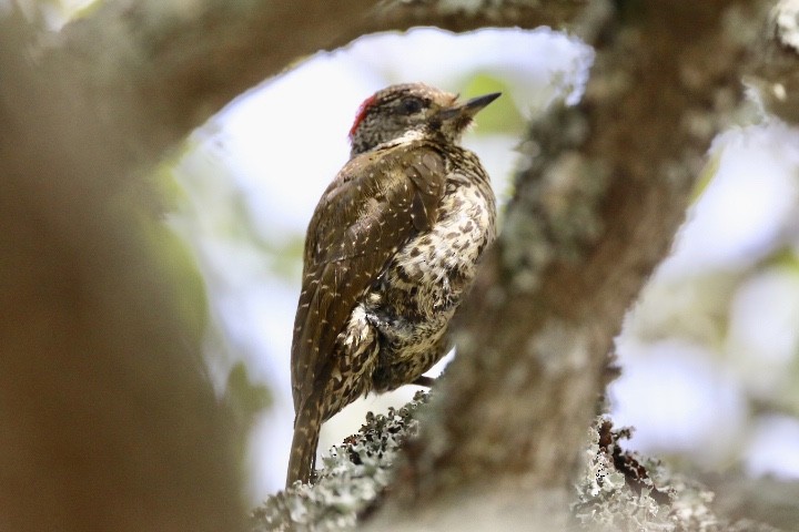
[[[312,481],[324,421],[368,392],[429,385],[451,350],[447,326],[496,236],[488,174],[461,137],[499,95],[402,83],[360,106],[305,235],[286,488]]]

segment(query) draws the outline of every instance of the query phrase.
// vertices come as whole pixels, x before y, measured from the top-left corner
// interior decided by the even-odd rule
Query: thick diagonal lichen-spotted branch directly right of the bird
[[[504,233],[461,313],[458,357],[376,528],[493,491],[505,492],[499,508],[516,500],[563,525],[550,510],[566,507],[613,338],[740,101],[751,41],[727,22],[762,23],[759,2],[619,6],[597,32],[584,101],[553,109],[523,143]]]

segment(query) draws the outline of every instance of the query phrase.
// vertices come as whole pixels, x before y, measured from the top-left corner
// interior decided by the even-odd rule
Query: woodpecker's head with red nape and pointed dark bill
[[[350,130],[351,155],[368,152],[409,132],[457,142],[474,115],[498,96],[495,92],[461,102],[457,94],[424,83],[391,85],[361,104]]]

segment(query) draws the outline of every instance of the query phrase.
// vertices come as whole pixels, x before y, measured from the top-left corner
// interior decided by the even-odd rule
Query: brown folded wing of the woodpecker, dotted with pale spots
[[[444,193],[443,157],[395,145],[352,158],[327,187],[305,239],[294,318],[294,410],[330,378],[336,336],[390,257],[429,228]]]

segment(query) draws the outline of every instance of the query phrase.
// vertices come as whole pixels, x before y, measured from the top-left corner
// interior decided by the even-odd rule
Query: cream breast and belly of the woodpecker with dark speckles
[[[366,298],[380,332],[378,391],[414,380],[446,354],[446,327],[494,239],[494,193],[476,156],[466,154],[474,165],[447,175],[433,227],[397,249]]]

